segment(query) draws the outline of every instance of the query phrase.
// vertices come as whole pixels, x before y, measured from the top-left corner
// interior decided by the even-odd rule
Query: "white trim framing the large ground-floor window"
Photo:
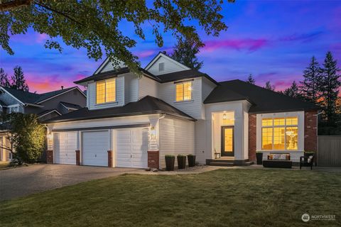
[[[262,118],[286,118],[286,117],[298,117],[298,150],[262,150],[261,149],[261,126]],[[277,127],[277,126],[276,126]],[[291,126],[278,126],[278,127],[291,127]],[[270,126],[274,128],[274,126]],[[274,138],[273,138],[274,140]],[[256,150],[263,152],[285,152],[285,153],[297,153],[304,150],[304,111],[274,113],[274,114],[257,114],[256,116]]]

